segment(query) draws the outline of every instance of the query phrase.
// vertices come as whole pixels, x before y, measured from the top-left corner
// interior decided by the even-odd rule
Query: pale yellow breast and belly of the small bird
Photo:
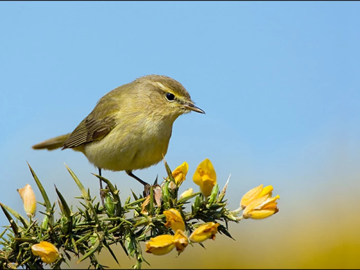
[[[167,153],[172,123],[142,119],[117,124],[101,140],[84,146],[83,153],[98,168],[123,171],[148,168]]]

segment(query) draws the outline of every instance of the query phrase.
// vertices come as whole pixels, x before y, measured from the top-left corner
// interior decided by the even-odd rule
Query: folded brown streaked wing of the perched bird
[[[115,120],[112,117],[105,117],[96,120],[92,115],[88,115],[78,127],[71,133],[70,137],[64,142],[63,149],[74,148],[85,143],[102,139],[115,127]]]

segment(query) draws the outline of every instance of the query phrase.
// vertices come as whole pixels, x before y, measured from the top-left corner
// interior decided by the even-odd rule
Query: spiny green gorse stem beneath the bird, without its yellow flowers
[[[203,222],[225,222],[226,226],[219,226],[219,232],[230,238],[232,237],[227,230],[227,222],[239,222],[242,219],[242,216],[237,217],[239,209],[230,211],[226,208],[226,200],[223,197],[227,184],[220,197],[217,190],[213,189],[210,201],[200,192],[178,200],[177,188],[175,191],[168,189],[169,182],[167,181],[169,180],[167,179],[173,181],[173,178],[167,167],[168,178],[161,185],[160,203],[156,203],[154,199],[147,201],[143,195],[135,193],[133,193],[133,201],[129,196],[127,200],[120,202],[119,190],[107,179],[101,177],[99,170],[97,177],[101,177],[100,183],[102,181],[107,183],[107,189],[104,189],[104,196],[101,198],[103,202],[100,205],[91,198],[90,192],[86,191],[73,171],[67,167],[81,191],[81,207],[75,210],[74,206],[68,206],[60,191],[56,189],[60,206],[60,218],[56,220],[55,203],[51,207],[39,179],[30,166],[29,168],[37,185],[41,187],[43,198],[46,198],[44,200],[47,210],[43,213],[43,221],[41,218],[30,219],[29,225],[23,221],[24,224],[21,226],[21,222],[18,221],[26,219],[1,204],[11,226],[7,226],[4,232],[0,233],[0,268],[43,268],[41,258],[34,256],[31,251],[32,245],[41,241],[52,243],[60,251],[59,258],[50,264],[52,268],[60,268],[62,263],[68,264],[73,258],[77,258],[79,262],[87,260],[89,266],[93,265],[97,269],[104,268],[105,266],[98,262],[96,256],[103,248],[109,250],[118,263],[111,249],[111,246],[117,243],[123,248],[125,254],[136,260],[133,268],[141,268],[141,263],[147,263],[147,261],[142,255],[140,242],[149,241],[151,237],[159,235],[174,234],[171,228],[165,226],[167,222],[163,213],[165,210],[175,208],[181,211],[185,217],[184,222],[188,233],[194,231]],[[190,200],[193,202],[191,203]],[[150,205],[150,202],[153,202],[153,205]],[[191,204],[190,210],[186,210],[185,206],[188,204]],[[132,217],[127,216],[130,212],[132,212]],[[13,222],[11,214],[16,222]]]

